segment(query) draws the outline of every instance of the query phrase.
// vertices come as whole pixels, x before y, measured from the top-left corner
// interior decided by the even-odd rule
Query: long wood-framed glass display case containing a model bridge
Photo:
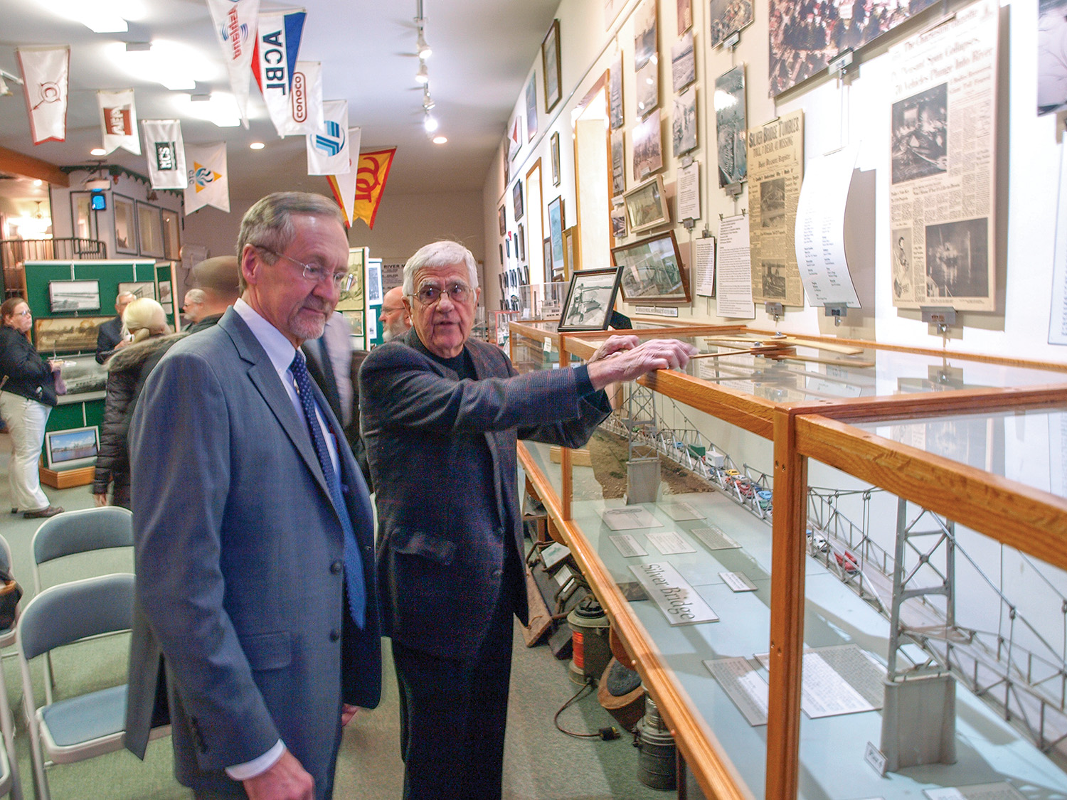
[[[699,355],[520,458],[707,796],[1067,796],[1067,367],[634,333]]]

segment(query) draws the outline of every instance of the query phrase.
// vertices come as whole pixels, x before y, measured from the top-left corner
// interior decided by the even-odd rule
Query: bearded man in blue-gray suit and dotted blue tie
[[[137,596],[128,746],[158,643],[194,797],[329,798],[341,703],[381,689],[366,485],[300,345],[347,288],[337,207],[269,195],[241,222],[241,299],[168,352],[130,430]]]

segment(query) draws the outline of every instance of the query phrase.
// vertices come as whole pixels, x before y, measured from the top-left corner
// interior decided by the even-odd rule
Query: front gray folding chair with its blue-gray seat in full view
[[[100,575],[45,589],[18,621],[22,703],[38,800],[49,800],[46,767],[94,758],[123,747],[126,684],[46,703],[39,708],[30,661],[66,644],[128,630],[133,615],[133,576]],[[124,670],[125,673],[125,670]],[[153,738],[169,726],[153,731]]]

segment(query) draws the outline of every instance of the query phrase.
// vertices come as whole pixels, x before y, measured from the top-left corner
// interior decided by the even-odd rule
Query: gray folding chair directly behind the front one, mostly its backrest
[[[80,553],[133,546],[133,514],[118,506],[64,511],[33,534],[33,590],[42,589],[41,564]],[[45,657],[45,702],[52,702],[52,662]]]

